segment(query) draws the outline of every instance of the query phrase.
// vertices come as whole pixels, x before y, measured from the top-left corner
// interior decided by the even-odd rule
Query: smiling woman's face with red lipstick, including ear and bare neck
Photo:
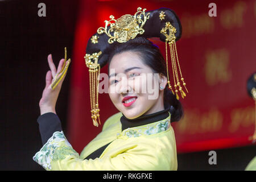
[[[167,78],[158,76],[136,52],[114,55],[109,65],[109,97],[129,119],[163,110],[163,90],[159,94],[159,85],[165,87]]]

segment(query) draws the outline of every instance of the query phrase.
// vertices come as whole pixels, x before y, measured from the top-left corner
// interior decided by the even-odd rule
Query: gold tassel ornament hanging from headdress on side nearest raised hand
[[[98,127],[100,121],[100,109],[98,108],[98,85],[100,82],[100,64],[98,64],[98,57],[100,52],[90,55],[86,53],[84,56],[86,67],[89,68],[89,80],[90,80],[90,112],[92,113],[93,125]],[[94,60],[94,63],[92,62]]]

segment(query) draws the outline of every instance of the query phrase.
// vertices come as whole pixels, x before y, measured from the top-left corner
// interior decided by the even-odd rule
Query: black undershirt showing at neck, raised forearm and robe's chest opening
[[[141,117],[135,119],[128,119],[125,115],[122,115],[120,122],[122,124],[122,131],[129,127],[137,127],[142,125],[147,125],[149,123],[154,123],[166,119],[169,117],[169,109],[161,110],[156,113],[142,115]],[[55,131],[62,131],[61,122],[59,117],[55,113],[45,113],[38,117],[39,130],[42,138],[43,144],[47,142],[49,138]],[[112,143],[112,142],[110,142]],[[109,144],[98,148],[92,154],[88,155],[85,159],[96,159],[100,158],[102,152],[109,146]]]

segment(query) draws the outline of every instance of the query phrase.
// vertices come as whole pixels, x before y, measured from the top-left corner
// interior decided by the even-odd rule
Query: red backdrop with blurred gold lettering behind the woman
[[[247,96],[247,78],[256,69],[256,1],[214,1],[217,16],[210,17],[211,1],[81,1],[72,57],[68,139],[81,150],[102,129],[90,118],[89,72],[86,43],[109,15],[118,18],[168,7],[181,20],[183,35],[177,42],[181,71],[189,93],[183,100],[184,118],[172,126],[177,152],[214,150],[251,144],[254,101]],[[153,40],[165,55],[164,43]],[[107,73],[106,68],[101,73]],[[108,94],[99,96],[101,122],[118,110]]]

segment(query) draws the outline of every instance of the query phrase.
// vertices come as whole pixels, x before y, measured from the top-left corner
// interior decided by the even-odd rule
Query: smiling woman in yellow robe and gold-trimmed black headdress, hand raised
[[[38,118],[44,146],[33,159],[47,170],[176,170],[176,142],[171,122],[179,121],[183,115],[177,92],[185,96],[177,76],[180,67],[177,69],[176,61],[179,62],[173,60],[175,40],[181,36],[179,19],[170,9],[146,14],[141,8],[134,16],[110,18],[115,24],[108,27],[106,23],[105,28],[100,27],[92,36],[85,61],[89,68],[94,126],[100,123],[97,77],[106,63],[109,63],[109,97],[119,113],[105,121],[101,133],[79,155],[65,138],[55,112],[63,80],[56,90],[49,87],[51,75],[60,72],[63,61],[56,71],[49,56],[52,72],[47,73],[42,97],[43,103],[48,104],[40,105],[42,115]],[[111,28],[114,29],[110,31]],[[138,34],[142,36],[136,37]],[[170,45],[176,93],[170,85],[168,63],[159,48],[147,39],[153,35],[166,42],[166,48],[167,43]],[[185,86],[182,76],[181,81]],[[145,87],[146,92],[143,92]]]

